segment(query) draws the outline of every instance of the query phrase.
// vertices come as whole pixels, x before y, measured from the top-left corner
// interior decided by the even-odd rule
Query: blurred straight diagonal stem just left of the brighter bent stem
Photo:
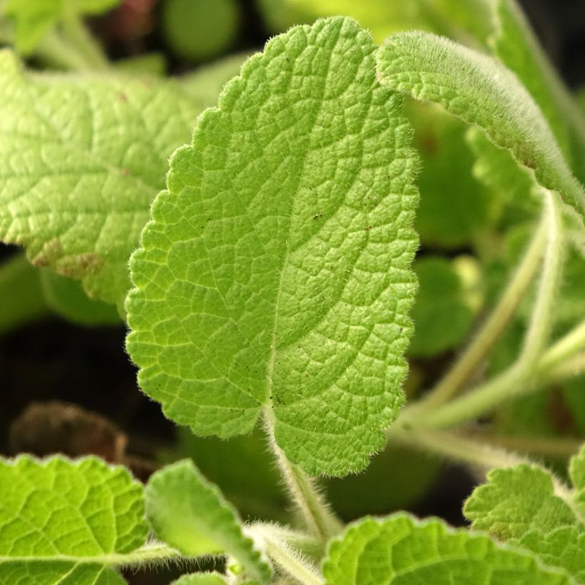
[[[479,333],[474,337],[474,340],[439,384],[430,390],[422,400],[408,409],[434,408],[447,402],[462,388],[482,360],[484,360],[489,350],[492,349],[494,343],[509,324],[510,318],[527,292],[529,284],[539,268],[546,245],[547,223],[548,220],[545,214],[502,298],[481,330],[479,330]]]

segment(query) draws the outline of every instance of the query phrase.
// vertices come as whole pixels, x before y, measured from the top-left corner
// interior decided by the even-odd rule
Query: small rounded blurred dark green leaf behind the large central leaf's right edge
[[[414,263],[414,273],[419,293],[412,307],[414,336],[409,355],[427,357],[457,347],[474,318],[457,270],[445,258],[427,256]]]

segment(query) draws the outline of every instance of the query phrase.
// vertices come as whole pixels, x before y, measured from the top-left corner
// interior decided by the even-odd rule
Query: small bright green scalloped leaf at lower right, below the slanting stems
[[[502,540],[577,522],[571,508],[555,494],[551,474],[526,464],[489,472],[487,484],[474,489],[463,512],[474,529]]]

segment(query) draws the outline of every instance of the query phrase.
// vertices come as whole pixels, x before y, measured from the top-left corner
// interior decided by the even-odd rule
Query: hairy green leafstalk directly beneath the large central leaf
[[[315,487],[313,480],[305,474],[300,467],[291,463],[283,450],[278,447],[274,438],[274,415],[265,409],[265,427],[270,447],[276,457],[280,474],[285,480],[285,485],[292,502],[300,510],[310,534],[327,542],[331,536],[339,534],[343,526],[331,512],[329,505]]]

